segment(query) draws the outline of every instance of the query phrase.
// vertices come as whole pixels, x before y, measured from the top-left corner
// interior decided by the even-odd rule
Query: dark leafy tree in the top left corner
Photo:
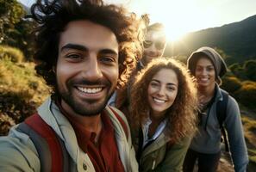
[[[0,44],[15,46],[32,59],[34,39],[32,28],[34,23],[25,20],[26,11],[16,0],[0,0]]]

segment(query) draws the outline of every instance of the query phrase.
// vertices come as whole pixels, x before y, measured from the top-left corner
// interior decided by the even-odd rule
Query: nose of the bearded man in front
[[[85,62],[83,77],[89,81],[95,81],[103,77],[100,65],[98,64],[97,57],[91,56],[88,61]]]

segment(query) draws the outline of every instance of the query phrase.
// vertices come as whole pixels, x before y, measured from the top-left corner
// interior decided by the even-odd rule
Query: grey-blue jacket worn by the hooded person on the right
[[[203,115],[202,126],[198,127],[196,136],[192,139],[190,149],[201,153],[216,153],[221,150],[221,129],[216,116],[216,103],[222,101],[222,93],[216,84],[215,101]],[[224,127],[228,132],[228,142],[234,163],[234,170],[244,172],[247,170],[248,154],[240,119],[240,109],[234,98],[228,95],[227,117]]]

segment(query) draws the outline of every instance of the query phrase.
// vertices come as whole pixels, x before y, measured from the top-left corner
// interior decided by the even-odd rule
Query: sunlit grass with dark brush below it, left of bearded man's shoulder
[[[16,64],[11,58],[0,59],[0,135],[34,114],[49,89],[35,75],[33,63]]]

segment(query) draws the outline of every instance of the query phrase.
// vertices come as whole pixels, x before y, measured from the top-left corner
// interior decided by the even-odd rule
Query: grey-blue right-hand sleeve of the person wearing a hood
[[[228,132],[228,142],[234,163],[234,170],[236,172],[247,171],[247,144],[240,119],[240,109],[237,102],[231,96],[228,98],[227,117],[224,124]]]

